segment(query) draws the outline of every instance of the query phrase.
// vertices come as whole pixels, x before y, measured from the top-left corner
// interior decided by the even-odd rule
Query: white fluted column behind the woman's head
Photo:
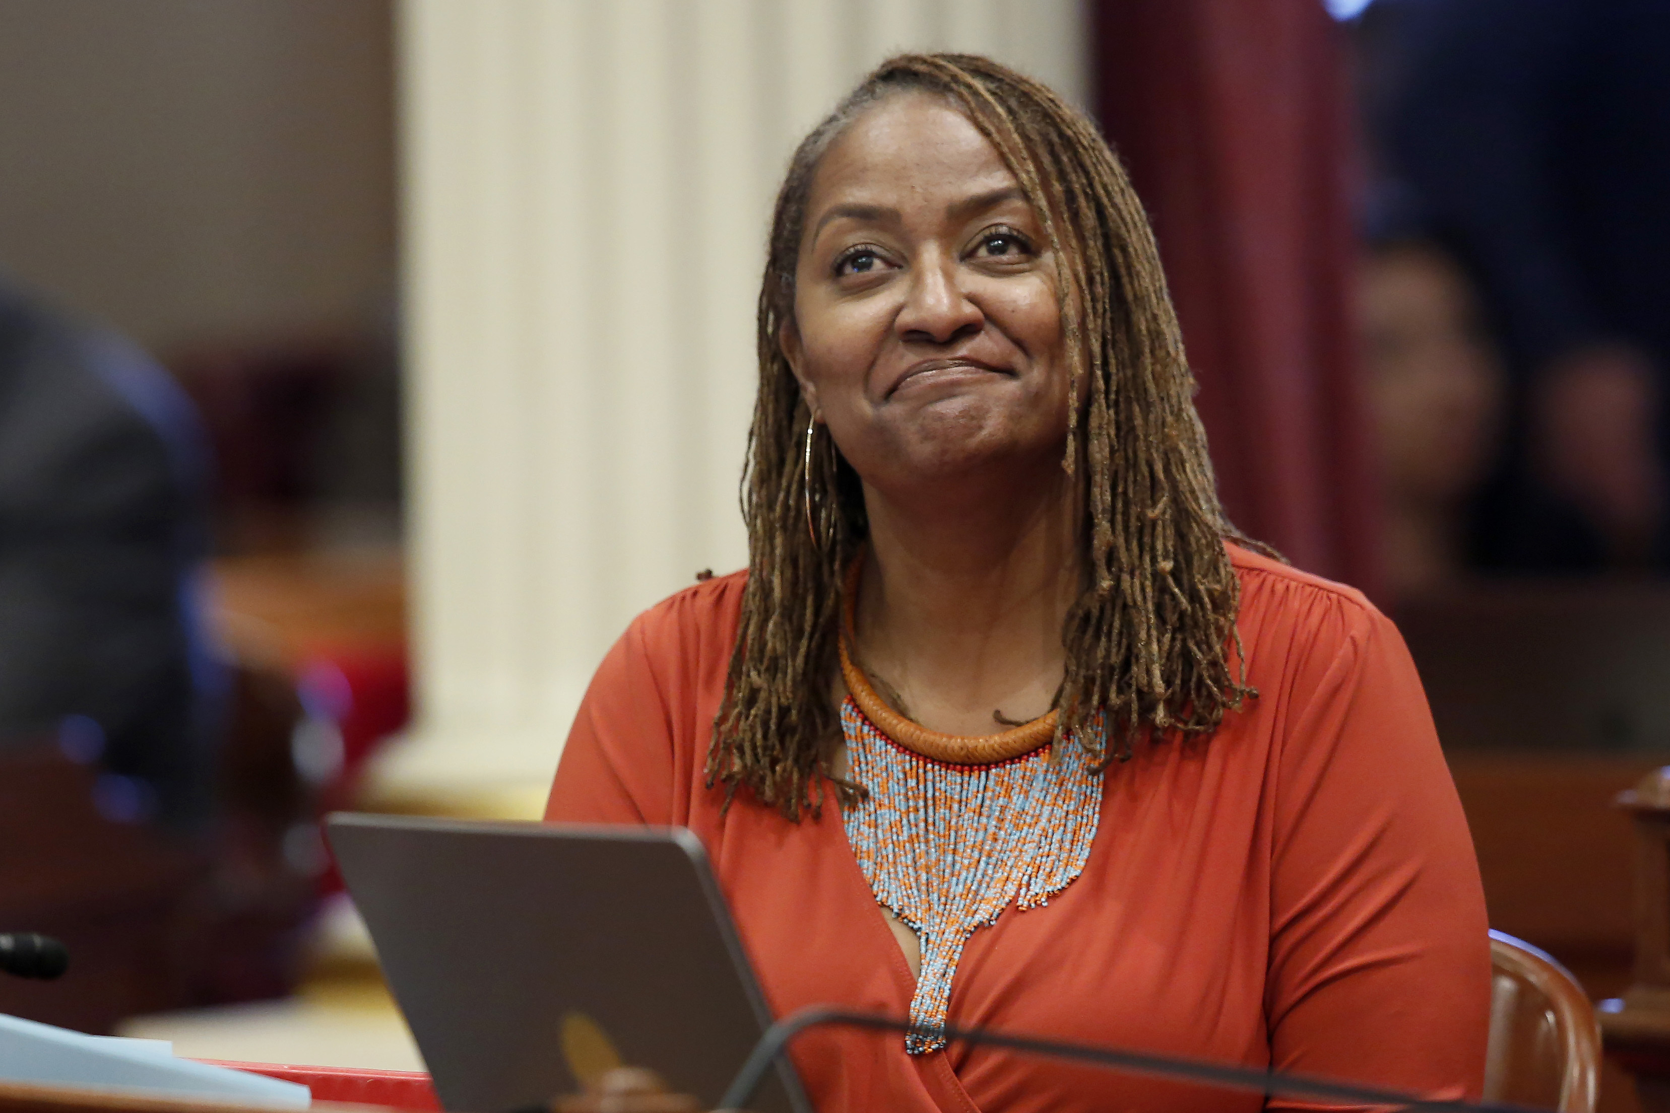
[[[374,791],[536,813],[626,622],[746,561],[795,142],[903,48],[1082,100],[1084,25],[1080,0],[402,0],[418,718]]]

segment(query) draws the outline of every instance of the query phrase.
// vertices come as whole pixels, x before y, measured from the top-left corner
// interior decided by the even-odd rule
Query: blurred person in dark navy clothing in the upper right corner
[[[1521,517],[1565,504],[1503,564],[1663,567],[1670,3],[1378,0],[1363,32],[1379,155],[1503,329]]]

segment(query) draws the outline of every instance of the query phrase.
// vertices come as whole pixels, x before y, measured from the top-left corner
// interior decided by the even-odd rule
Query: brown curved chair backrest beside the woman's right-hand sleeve
[[[1593,1113],[1600,1025],[1576,978],[1523,939],[1490,933],[1485,1100]]]

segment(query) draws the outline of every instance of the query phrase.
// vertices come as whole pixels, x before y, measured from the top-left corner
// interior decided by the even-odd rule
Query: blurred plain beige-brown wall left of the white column
[[[169,349],[394,267],[389,0],[0,0],[0,267]]]

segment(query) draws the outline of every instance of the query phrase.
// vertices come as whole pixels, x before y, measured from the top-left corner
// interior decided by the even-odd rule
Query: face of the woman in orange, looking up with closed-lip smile
[[[939,97],[892,97],[825,152],[783,349],[868,486],[1059,469],[1054,265],[1015,177]]]

